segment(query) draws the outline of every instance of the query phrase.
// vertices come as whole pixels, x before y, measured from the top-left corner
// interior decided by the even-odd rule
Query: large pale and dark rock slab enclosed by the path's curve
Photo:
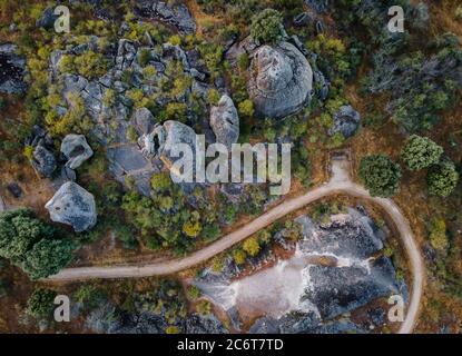
[[[292,247],[292,258],[263,270],[248,264],[242,268],[248,271],[253,266],[256,273],[242,278],[243,269],[225,259],[220,273],[204,269],[194,284],[229,318],[236,307],[237,322],[243,310],[259,316],[250,333],[365,333],[368,325],[383,323],[376,317],[368,322],[363,306],[395,294],[405,300],[405,283],[401,285],[392,260],[382,254],[385,233],[362,207],[318,220],[301,216],[295,222],[302,238]],[[286,229],[278,234],[286,235]],[[274,290],[278,298],[272,297]],[[353,313],[365,322],[350,319]]]

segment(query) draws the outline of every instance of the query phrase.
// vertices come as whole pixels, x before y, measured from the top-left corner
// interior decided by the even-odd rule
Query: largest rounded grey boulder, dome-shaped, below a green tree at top
[[[262,116],[284,118],[296,112],[309,101],[312,88],[312,68],[295,46],[281,42],[255,52],[248,92]]]

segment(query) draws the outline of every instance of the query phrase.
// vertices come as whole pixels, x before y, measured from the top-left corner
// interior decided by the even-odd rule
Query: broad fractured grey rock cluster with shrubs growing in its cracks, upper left
[[[209,75],[207,68],[196,50],[186,51],[180,46],[168,42],[158,48],[154,46],[149,33],[145,37],[147,44],[120,39],[115,50],[115,66],[100,78],[89,79],[78,73],[61,73],[59,70],[63,55],[78,56],[87,50],[98,51],[97,37],[91,37],[87,43],[65,51],[53,51],[50,62],[55,81],[63,85],[63,97],[67,98],[72,93],[82,98],[88,115],[96,123],[92,134],[107,147],[109,170],[122,184],[130,178],[139,192],[149,196],[150,177],[164,168],[164,158],[168,158],[170,146],[178,142],[194,142],[194,130],[177,121],[159,125],[146,108],[136,109],[131,113],[127,91],[136,88],[142,90],[145,96],[158,93],[157,103],[160,107],[170,101],[186,103],[189,116],[193,105],[189,102],[189,95],[194,93],[195,97],[206,100],[210,86],[205,81]],[[142,52],[148,52],[149,59],[141,66]],[[110,52],[105,55],[111,57]],[[191,85],[183,95],[167,98],[163,96],[158,83],[163,80],[171,80],[169,77],[171,73],[167,73],[166,70],[173,61],[181,63],[184,75],[191,78]],[[146,78],[145,66],[156,69],[151,78]],[[127,71],[132,73],[129,83],[122,79]],[[116,96],[111,105],[104,100],[108,90]],[[60,116],[66,115],[67,110],[67,108],[57,108]],[[128,137],[132,128],[137,135],[136,140]]]

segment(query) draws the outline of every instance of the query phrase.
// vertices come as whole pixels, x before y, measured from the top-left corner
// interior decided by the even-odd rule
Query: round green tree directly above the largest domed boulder
[[[284,34],[283,17],[279,11],[265,9],[252,18],[250,36],[261,43],[275,43]]]

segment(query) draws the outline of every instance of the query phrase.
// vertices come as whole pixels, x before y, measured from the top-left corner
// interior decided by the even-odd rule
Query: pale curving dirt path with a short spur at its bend
[[[243,226],[242,228],[223,236],[216,243],[196,253],[193,253],[187,257],[160,261],[157,264],[66,268],[57,275],[49,277],[47,280],[70,281],[90,278],[138,278],[175,274],[177,271],[194,267],[198,264],[201,264],[210,259],[212,257],[230,248],[233,245],[242,241],[243,239],[252,236],[253,234],[262,230],[266,226],[286,216],[287,214],[296,211],[303,208],[304,206],[320,200],[324,197],[341,192],[362,199],[367,199],[381,206],[389,214],[390,218],[393,220],[396,229],[399,230],[401,239],[403,241],[403,247],[407,253],[413,276],[411,298],[407,306],[406,317],[399,333],[412,333],[419,314],[420,300],[423,291],[423,281],[425,278],[425,268],[419,246],[414,240],[414,236],[412,234],[409,221],[403,216],[396,204],[393,202],[393,200],[371,197],[367,190],[365,190],[362,186],[353,182],[348,177],[347,170],[342,165],[343,162],[341,161],[333,162],[333,177],[327,184],[317,187],[303,196],[282,202],[281,205],[274,207],[269,211],[263,214],[262,216]]]

